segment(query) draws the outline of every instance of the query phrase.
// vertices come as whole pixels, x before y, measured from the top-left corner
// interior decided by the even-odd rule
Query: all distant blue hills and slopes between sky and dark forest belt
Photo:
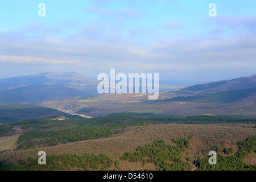
[[[97,80],[79,73],[40,73],[0,79],[0,102],[30,103],[100,117],[119,112],[172,115],[256,115],[256,75],[148,94],[98,94]]]

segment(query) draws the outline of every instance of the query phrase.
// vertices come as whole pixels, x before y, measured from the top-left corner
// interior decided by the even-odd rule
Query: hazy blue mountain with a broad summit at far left
[[[79,73],[40,73],[0,79],[0,102],[36,104],[48,100],[97,94],[98,81]]]

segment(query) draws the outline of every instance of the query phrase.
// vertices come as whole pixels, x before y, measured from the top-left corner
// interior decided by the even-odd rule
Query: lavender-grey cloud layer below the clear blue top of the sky
[[[146,16],[138,9],[104,8],[110,1],[92,3],[102,5],[84,9],[97,15],[95,22],[69,19],[50,26],[31,23],[18,30],[0,31],[0,77],[5,77],[5,68],[17,63],[19,67],[42,65],[42,71],[46,68],[59,72],[86,69],[90,74],[87,76],[92,77],[110,68],[166,76],[172,72],[170,76],[178,74],[180,77],[205,73],[205,70],[214,75],[220,69],[230,72],[243,69],[245,73],[246,69],[256,68],[255,15],[220,16],[210,24],[208,18],[202,18],[205,28],[199,29],[196,35],[179,35],[192,27],[174,18],[154,20],[145,26],[145,22],[136,20]],[[63,26],[70,30],[82,28],[58,37],[65,32]],[[194,77],[201,78],[201,75]]]

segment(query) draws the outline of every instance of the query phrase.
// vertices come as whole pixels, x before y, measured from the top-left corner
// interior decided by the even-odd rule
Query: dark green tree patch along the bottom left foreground
[[[18,164],[3,160],[0,161],[0,171],[107,170],[113,167],[113,164],[115,168],[118,167],[106,154],[52,154],[47,156],[46,160],[46,165],[39,165],[38,159],[33,158],[19,160]]]

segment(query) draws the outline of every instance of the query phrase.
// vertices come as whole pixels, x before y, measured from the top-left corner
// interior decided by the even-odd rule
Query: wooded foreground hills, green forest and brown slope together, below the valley
[[[112,115],[80,121],[30,119],[5,126],[27,130],[16,138],[18,146],[2,138],[1,151],[0,140],[0,170],[195,170],[201,169],[199,162],[208,164],[208,152],[214,150],[231,159],[220,162],[223,169],[255,171],[255,118]],[[6,143],[15,149],[8,150]],[[47,154],[45,166],[37,163],[42,150]],[[108,156],[107,163],[113,165],[106,167],[102,159]],[[232,160],[236,156],[240,160]]]

